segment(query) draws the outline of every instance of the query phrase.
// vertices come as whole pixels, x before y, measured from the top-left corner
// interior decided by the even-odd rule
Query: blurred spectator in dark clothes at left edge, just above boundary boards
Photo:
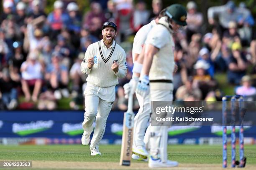
[[[18,91],[15,84],[10,77],[8,68],[4,68],[0,72],[0,93],[5,108],[9,110],[15,109],[18,105]]]

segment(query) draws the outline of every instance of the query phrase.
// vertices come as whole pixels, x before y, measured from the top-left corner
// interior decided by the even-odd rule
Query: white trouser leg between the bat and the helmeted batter
[[[147,95],[143,98],[141,95],[136,94],[140,109],[134,117],[134,126],[133,126],[133,148],[138,146],[145,147],[143,138],[145,136],[145,130],[148,125],[148,120],[150,117],[151,106],[150,106],[150,97]]]

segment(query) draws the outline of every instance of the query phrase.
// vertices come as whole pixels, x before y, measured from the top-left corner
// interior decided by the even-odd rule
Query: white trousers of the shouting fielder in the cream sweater
[[[96,118],[95,130],[90,145],[90,150],[93,150],[99,148],[100,140],[104,135],[108,114],[115,101],[115,86],[98,87],[87,82],[84,95],[85,112],[82,127],[87,133],[92,133],[93,122]]]

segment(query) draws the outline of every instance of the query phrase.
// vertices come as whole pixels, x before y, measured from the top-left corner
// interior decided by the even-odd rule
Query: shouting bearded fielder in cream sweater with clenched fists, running
[[[89,144],[93,122],[96,122],[90,145],[91,155],[101,155],[99,143],[115,100],[115,85],[118,84],[118,77],[125,77],[127,70],[125,51],[114,40],[117,35],[116,25],[105,22],[102,26],[102,35],[102,40],[89,45],[81,64],[81,71],[89,74],[84,90],[82,145]]]

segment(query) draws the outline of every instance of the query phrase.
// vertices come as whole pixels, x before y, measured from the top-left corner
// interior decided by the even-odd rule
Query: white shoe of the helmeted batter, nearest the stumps
[[[167,167],[176,167],[178,166],[178,162],[176,161],[171,161],[171,160],[167,160],[167,162],[162,162],[160,158],[152,158],[152,156],[150,156],[149,160],[148,160],[148,167],[149,168],[167,168]]]

